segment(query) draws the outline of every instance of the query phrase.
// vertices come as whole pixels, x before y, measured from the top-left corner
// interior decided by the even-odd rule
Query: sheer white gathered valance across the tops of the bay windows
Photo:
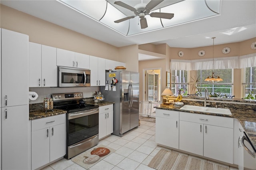
[[[171,70],[208,70],[212,69],[212,66],[212,59],[171,59],[170,61]],[[214,59],[214,69],[238,69],[246,67],[256,67],[256,53]]]

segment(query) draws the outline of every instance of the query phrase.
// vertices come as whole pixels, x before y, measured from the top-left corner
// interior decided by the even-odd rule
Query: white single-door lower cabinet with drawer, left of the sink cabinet
[[[156,143],[179,148],[179,112],[156,109]]]

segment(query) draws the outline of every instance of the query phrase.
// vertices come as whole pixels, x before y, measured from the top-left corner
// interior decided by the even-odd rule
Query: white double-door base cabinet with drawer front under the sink
[[[180,112],[180,150],[233,164],[234,119]]]

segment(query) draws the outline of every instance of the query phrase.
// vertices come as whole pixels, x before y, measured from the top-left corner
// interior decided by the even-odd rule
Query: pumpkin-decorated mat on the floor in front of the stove
[[[71,160],[83,168],[89,169],[115,151],[113,148],[100,144],[82,152]]]

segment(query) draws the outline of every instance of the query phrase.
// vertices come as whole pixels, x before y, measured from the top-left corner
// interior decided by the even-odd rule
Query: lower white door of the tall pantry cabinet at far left
[[[30,167],[28,112],[28,105],[2,107],[2,170]]]

